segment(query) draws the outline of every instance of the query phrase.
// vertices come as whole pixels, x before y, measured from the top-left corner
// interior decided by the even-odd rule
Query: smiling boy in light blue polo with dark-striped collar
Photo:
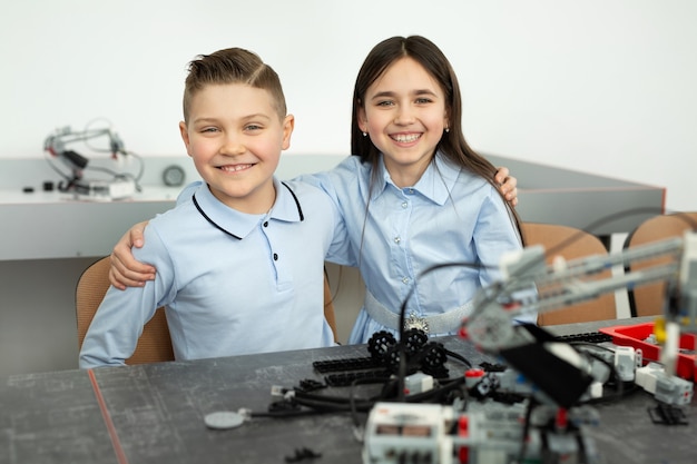
[[[334,344],[323,266],[344,240],[322,190],[274,177],[293,128],[278,76],[255,53],[233,48],[190,62],[179,130],[204,182],[149,223],[135,255],[157,276],[108,290],[80,367],[124,364],[159,306],[177,359]]]

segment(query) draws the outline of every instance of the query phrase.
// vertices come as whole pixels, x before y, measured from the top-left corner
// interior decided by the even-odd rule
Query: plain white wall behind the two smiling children
[[[459,73],[475,149],[664,186],[668,208],[697,209],[693,0],[0,6],[0,157],[41,157],[55,128],[99,117],[138,154],[183,154],[186,63],[232,46],[279,72],[297,117],[288,154],[347,154],[363,58],[384,38],[419,33]]]

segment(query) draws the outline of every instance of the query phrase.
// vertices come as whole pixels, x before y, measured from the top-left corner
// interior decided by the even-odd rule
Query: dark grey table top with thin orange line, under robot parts
[[[439,342],[473,364],[487,359],[457,337]],[[204,423],[206,414],[217,411],[264,412],[273,401],[272,386],[323,378],[313,362],[360,356],[367,356],[365,346],[101,368],[94,376],[66,371],[6,377],[0,379],[0,463],[284,463],[302,447],[322,453],[317,463],[360,463],[362,445],[346,413],[254,417],[225,431]],[[464,368],[458,361],[448,366],[451,376]],[[652,424],[647,407],[654,403],[639,391],[597,406],[601,421],[591,436],[608,463],[695,462],[695,425]],[[691,422],[696,408],[688,408]]]

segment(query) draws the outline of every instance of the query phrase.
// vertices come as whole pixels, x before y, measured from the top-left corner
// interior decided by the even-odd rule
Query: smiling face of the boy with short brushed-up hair
[[[281,119],[268,91],[244,83],[206,86],[192,98],[188,126],[179,122],[186,151],[213,195],[248,214],[273,206],[273,175],[293,127],[293,116]]]

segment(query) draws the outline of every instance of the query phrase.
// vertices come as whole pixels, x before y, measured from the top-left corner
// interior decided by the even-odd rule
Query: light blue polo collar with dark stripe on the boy
[[[300,199],[291,187],[274,177],[274,188],[276,189],[276,200],[266,215],[249,215],[226,206],[213,196],[206,184],[202,184],[196,189],[193,203],[213,227],[237,239],[243,239],[254,230],[262,219],[284,223],[298,223],[304,219]]]

